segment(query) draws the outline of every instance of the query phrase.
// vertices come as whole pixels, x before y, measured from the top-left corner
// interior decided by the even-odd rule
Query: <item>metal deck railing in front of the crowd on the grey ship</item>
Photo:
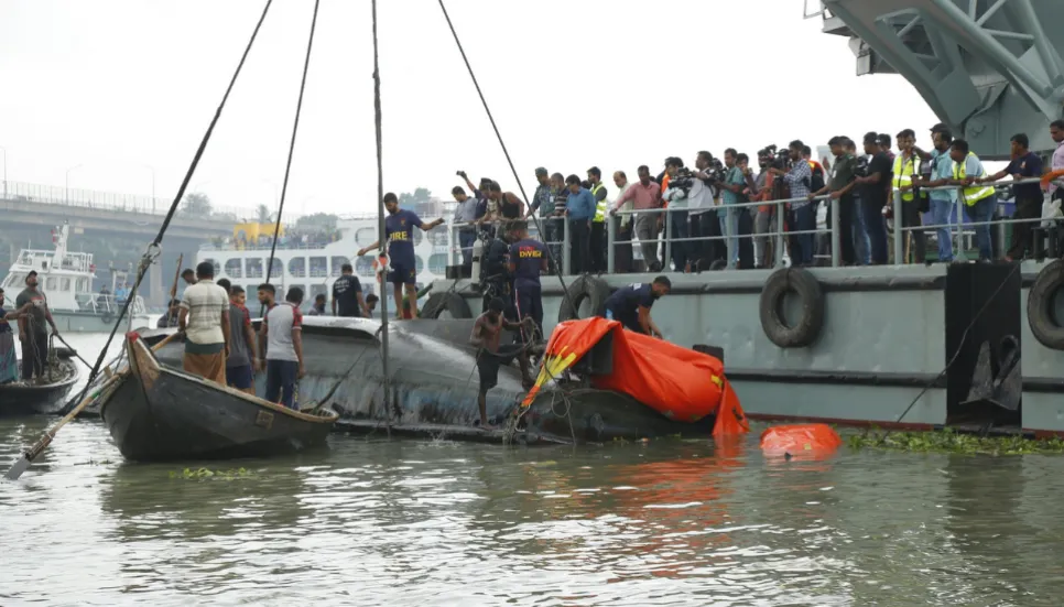
[[[1017,185],[1036,184],[1039,182],[1040,180],[1038,177],[1033,177],[1033,178],[1025,178],[1025,180],[1014,180],[1009,182],[996,182],[996,183],[986,184],[987,186],[994,187],[996,191],[996,195],[998,196],[997,208],[994,209],[994,214],[991,215],[991,218],[986,221],[974,221],[969,219],[968,213],[967,213],[967,208],[969,207],[966,207],[964,197],[960,195],[960,191],[964,189],[964,186],[947,185],[947,186],[940,186],[940,187],[922,187],[921,188],[922,192],[956,191],[957,197],[956,197],[955,208],[951,212],[948,221],[944,224],[921,223],[921,225],[919,226],[902,225],[901,217],[903,214],[903,205],[916,204],[916,203],[903,202],[902,193],[900,191],[895,191],[893,193],[892,200],[890,202],[892,217],[890,219],[884,219],[882,215],[880,215],[879,217],[876,218],[878,220],[886,221],[888,245],[890,246],[888,248],[888,254],[893,257],[893,264],[902,264],[901,261],[903,261],[908,257],[905,252],[913,250],[912,246],[906,247],[906,241],[909,241],[911,238],[918,237],[918,238],[926,239],[929,235],[935,235],[936,237],[941,237],[942,234],[948,234],[951,241],[953,243],[954,259],[957,261],[965,261],[969,257],[969,251],[976,248],[975,240],[976,240],[977,230],[981,226],[989,226],[996,229],[996,234],[991,234],[990,236],[991,242],[992,241],[999,242],[1000,243],[999,248],[1002,249],[1002,252],[1000,252],[997,257],[1002,257],[1005,242],[1008,237],[1008,228],[1010,226],[1014,226],[1019,224],[1047,226],[1050,225],[1051,221],[1057,221],[1057,219],[1047,219],[1042,217],[1041,208],[1039,209],[1038,217],[1031,217],[1031,218],[997,217],[998,214],[1003,208],[1007,208],[1008,205],[1010,204],[1010,199],[1007,199],[1006,197],[1003,197],[1002,192],[1008,192],[1010,188]],[[847,198],[848,199],[845,202],[845,204],[854,204],[854,205],[857,204],[855,197],[847,196]],[[827,202],[827,205],[826,205],[827,217],[823,225],[821,224],[819,218],[817,218],[816,229],[812,229],[812,230],[788,229],[786,215],[788,215],[790,205],[795,203],[811,204],[813,205],[813,213],[817,214],[817,210],[819,210],[822,203],[824,203],[825,200]],[[1046,203],[1050,202],[1050,197],[1045,193],[1043,193],[1043,202],[1046,202]],[[725,242],[725,246],[727,248],[727,258],[726,258],[727,268],[735,269],[739,257],[738,247],[739,247],[739,241],[741,239],[754,239],[754,242],[768,242],[769,240],[771,240],[772,242],[771,248],[773,253],[773,260],[772,260],[773,267],[788,265],[790,263],[790,257],[788,254],[788,250],[789,250],[788,240],[791,237],[802,236],[802,235],[814,236],[814,250],[818,251],[813,256],[814,264],[837,268],[839,265],[843,265],[842,259],[839,256],[840,226],[839,226],[839,214],[838,214],[838,207],[842,204],[844,204],[843,200],[840,199],[833,200],[830,198],[830,195],[826,194],[826,195],[816,196],[813,198],[794,197],[794,198],[786,198],[781,200],[754,200],[749,203],[739,203],[739,204],[729,204],[729,205],[721,204],[709,208],[697,208],[697,209],[669,207],[669,208],[616,212],[611,214],[609,216],[609,220],[606,221],[606,240],[607,240],[606,256],[605,256],[606,265],[607,265],[606,269],[607,269],[607,272],[609,273],[616,272],[616,264],[617,264],[616,252],[618,249],[617,246],[631,246],[633,262],[640,258],[640,249],[638,247],[640,245],[640,240],[638,238],[632,238],[631,240],[620,240],[618,238],[618,234],[620,231],[620,223],[622,218],[631,217],[632,225],[633,225],[636,216],[649,215],[649,214],[665,216],[665,219],[663,220],[664,229],[662,229],[658,238],[654,239],[655,243],[658,243],[658,247],[661,247],[662,245],[664,246],[665,254],[664,254],[663,261],[666,268],[665,271],[669,271],[667,268],[672,262],[672,249],[674,243],[710,242],[710,241]],[[773,207],[773,212],[771,216],[772,225],[770,226],[771,229],[763,232],[754,231],[749,234],[737,234],[738,213],[740,212],[740,209],[752,209],[756,214],[757,207],[767,207],[767,206]],[[698,237],[683,237],[683,238],[673,236],[673,221],[671,220],[672,214],[682,213],[684,215],[688,215],[692,212],[703,213],[703,212],[709,212],[709,210],[717,212],[718,221],[719,221],[719,216],[721,215],[720,212],[725,212],[724,215],[726,217],[729,217],[729,216],[732,217],[732,218],[729,218],[728,220],[720,221],[723,224],[724,234],[718,236],[698,236]],[[853,226],[851,226],[854,234],[847,235],[847,237],[853,239],[855,245],[855,254],[860,257],[865,252],[870,254],[870,246],[869,246],[870,243],[868,243],[868,239],[862,228],[862,224],[858,219],[858,213],[859,210],[855,208],[854,215],[853,215],[854,217]],[[930,212],[921,213],[920,214],[921,221],[923,221],[923,218],[930,214],[931,214]],[[751,219],[756,219],[756,215],[754,217],[751,217]],[[861,219],[867,220],[868,218],[861,218]],[[573,262],[572,262],[572,254],[571,254],[572,248],[569,246],[569,242],[571,242],[569,223],[564,218],[553,218],[553,217],[552,218],[540,217],[539,221],[544,229],[551,230],[553,226],[555,234],[561,232],[561,239],[556,239],[555,237],[555,240],[544,240],[542,238],[540,240],[552,248],[552,253],[554,254],[554,257],[556,259],[561,259],[562,261],[563,272],[566,275],[571,275],[573,273]],[[1058,219],[1058,221],[1064,223],[1064,219]],[[549,223],[553,223],[553,224],[549,224]],[[493,227],[498,228],[502,224],[503,221],[496,221],[493,223]],[[530,231],[532,231],[531,228],[533,225],[534,224],[530,221]],[[467,232],[468,230],[471,230],[475,234],[476,230],[482,229],[485,226],[482,225],[478,226],[475,223],[449,224],[448,237],[450,239],[449,249],[452,252],[450,254],[452,264],[455,264],[455,265],[460,264],[463,262],[463,257],[462,257],[463,251],[471,252],[473,250],[471,243],[465,247],[460,245],[462,240],[460,240],[459,234],[463,230],[467,230]],[[764,239],[764,240],[761,240],[761,239]],[[823,246],[821,242],[822,239],[826,239],[826,242],[824,242]],[[856,245],[858,239],[864,240],[866,246],[857,247]],[[757,246],[754,247],[756,257],[757,257],[757,250],[760,247],[757,247]],[[892,249],[892,251],[890,249]],[[929,259],[932,259],[936,253],[936,251],[932,248],[932,245],[930,242],[926,242],[925,250]],[[819,252],[819,251],[825,251],[825,252]],[[698,256],[694,256],[694,257],[697,258]],[[757,261],[760,262],[761,260],[758,259]],[[858,264],[864,264],[866,260],[857,259],[855,261]],[[683,268],[674,269],[674,271],[683,271],[683,270],[684,270]],[[703,270],[705,270],[705,268],[703,268]]]

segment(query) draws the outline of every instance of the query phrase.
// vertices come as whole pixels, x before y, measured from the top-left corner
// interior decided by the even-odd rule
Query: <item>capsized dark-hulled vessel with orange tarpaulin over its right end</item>
[[[381,324],[322,316],[303,321],[306,377],[300,382],[298,399],[322,402],[328,397],[327,404],[340,413],[336,427],[347,432],[383,434],[390,426],[400,436],[582,444],[710,436],[715,430],[737,432],[746,424],[719,359],[623,332],[605,318],[571,321],[555,328],[531,394],[518,369],[499,370],[498,386],[488,391],[488,421],[509,430],[477,427],[473,319],[389,324],[389,407],[378,340]],[[155,340],[167,329],[143,334]],[[172,343],[158,356],[176,367],[181,348]],[[261,391],[261,373],[256,382]],[[729,414],[719,415],[720,411]]]

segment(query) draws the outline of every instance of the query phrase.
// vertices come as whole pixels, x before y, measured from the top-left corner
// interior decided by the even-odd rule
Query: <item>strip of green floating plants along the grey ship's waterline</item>
[[[879,448],[915,453],[956,453],[965,455],[1064,454],[1064,440],[1035,440],[1020,434],[978,436],[949,429],[929,432],[887,432],[875,430],[846,437],[853,449]]]

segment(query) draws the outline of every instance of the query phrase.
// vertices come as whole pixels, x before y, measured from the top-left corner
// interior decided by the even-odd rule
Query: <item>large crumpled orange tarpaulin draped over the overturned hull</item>
[[[554,327],[540,376],[523,404],[531,404],[543,383],[560,377],[609,333],[614,336],[614,372],[591,376],[593,386],[629,394],[675,421],[696,422],[717,415],[715,435],[749,431],[720,360],[625,330],[620,323],[601,317],[567,321]]]

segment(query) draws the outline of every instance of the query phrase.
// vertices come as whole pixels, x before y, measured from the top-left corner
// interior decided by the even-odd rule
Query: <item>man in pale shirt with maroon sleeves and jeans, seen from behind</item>
[[[289,409],[295,409],[296,380],[306,375],[303,366],[302,303],[303,290],[298,286],[289,289],[284,303],[273,306],[262,319],[262,337],[259,339],[259,354],[267,365],[264,398]]]

